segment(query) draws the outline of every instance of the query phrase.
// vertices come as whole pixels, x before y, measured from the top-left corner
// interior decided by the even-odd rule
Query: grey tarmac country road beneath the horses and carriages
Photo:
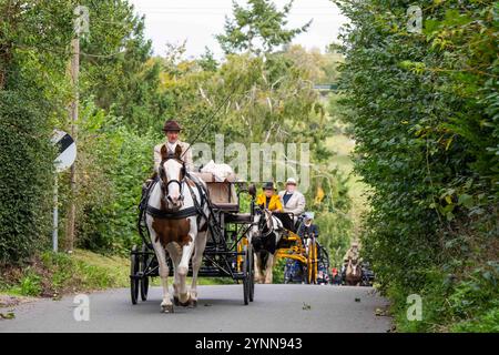
[[[128,288],[90,294],[90,320],[77,322],[74,296],[18,305],[0,332],[386,332],[390,318],[377,316],[387,302],[369,287],[256,285],[243,305],[242,285],[198,286],[196,308],[160,312],[161,288],[132,305]],[[8,308],[0,308],[7,312]]]

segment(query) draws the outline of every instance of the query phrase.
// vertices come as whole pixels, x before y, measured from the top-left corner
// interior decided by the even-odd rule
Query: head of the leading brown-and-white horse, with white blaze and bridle
[[[177,210],[183,205],[182,183],[185,179],[185,164],[181,159],[182,148],[176,145],[175,153],[167,153],[166,146],[161,148],[160,182],[162,202],[169,210]]]

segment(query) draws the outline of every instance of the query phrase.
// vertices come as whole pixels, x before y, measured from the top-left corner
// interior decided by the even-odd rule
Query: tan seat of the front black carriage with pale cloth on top
[[[238,212],[240,205],[234,183],[237,181],[235,174],[228,175],[224,181],[217,181],[214,174],[208,172],[191,172],[206,183],[210,201],[216,210],[224,212]]]

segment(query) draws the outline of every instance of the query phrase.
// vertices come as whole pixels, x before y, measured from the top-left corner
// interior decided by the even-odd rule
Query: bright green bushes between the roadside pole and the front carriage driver
[[[140,242],[136,230],[142,184],[153,172],[153,148],[163,138],[151,130],[136,132],[121,118],[91,101],[81,114],[80,174],[77,193],[78,246],[128,254]]]

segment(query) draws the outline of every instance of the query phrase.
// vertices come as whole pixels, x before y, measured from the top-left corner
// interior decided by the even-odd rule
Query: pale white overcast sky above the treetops
[[[131,0],[135,11],[145,14],[145,36],[153,41],[154,54],[164,55],[165,43],[186,42],[186,55],[197,57],[207,45],[215,57],[223,55],[214,36],[223,32],[225,16],[232,14],[232,0]],[[281,9],[287,0],[274,0]],[[245,3],[238,0],[238,3]],[[306,33],[295,38],[308,49],[324,48],[336,40],[346,21],[329,0],[295,0],[288,27],[296,28],[313,19]]]

